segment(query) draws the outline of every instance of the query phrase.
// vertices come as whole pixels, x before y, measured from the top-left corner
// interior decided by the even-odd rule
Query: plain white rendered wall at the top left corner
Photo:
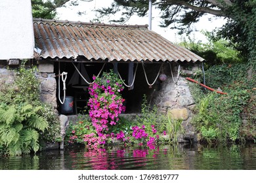
[[[0,59],[33,58],[30,0],[0,0]]]

